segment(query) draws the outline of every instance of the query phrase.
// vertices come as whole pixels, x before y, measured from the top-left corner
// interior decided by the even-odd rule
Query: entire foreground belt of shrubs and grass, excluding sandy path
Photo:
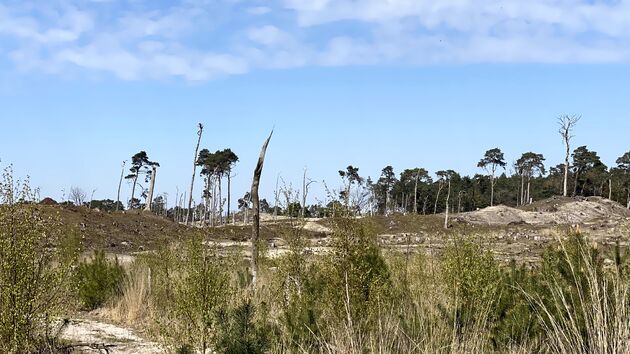
[[[76,238],[28,202],[28,185],[16,194],[7,175],[2,186],[2,352],[67,351],[61,319],[77,308],[177,353],[630,351],[626,251],[607,254],[577,229],[558,228],[530,267],[463,233],[439,256],[384,248],[374,219],[337,217],[325,254],[284,229],[288,252],[261,249],[253,286],[245,250],[217,248],[204,229],[124,267],[102,251],[78,261]]]

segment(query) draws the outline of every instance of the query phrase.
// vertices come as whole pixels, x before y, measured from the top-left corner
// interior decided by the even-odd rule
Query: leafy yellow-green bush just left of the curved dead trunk
[[[149,256],[147,263],[162,336],[205,352],[216,342],[217,315],[232,293],[229,260],[206,247],[197,233],[175,249]]]

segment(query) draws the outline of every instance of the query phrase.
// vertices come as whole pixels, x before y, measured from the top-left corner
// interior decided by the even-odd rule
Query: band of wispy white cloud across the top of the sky
[[[629,45],[627,0],[0,5],[8,70],[123,80],[208,80],[304,66],[618,63],[630,61]]]

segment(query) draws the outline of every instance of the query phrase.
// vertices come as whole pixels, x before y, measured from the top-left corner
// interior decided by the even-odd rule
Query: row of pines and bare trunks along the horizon
[[[293,217],[335,216],[341,210],[353,215],[459,213],[496,204],[523,206],[558,195],[601,196],[630,208],[630,151],[617,158],[615,166],[609,167],[588,146],[572,149],[572,132],[579,120],[578,116],[562,116],[558,120],[559,133],[566,147],[566,158],[561,164],[548,167],[543,154],[531,151],[509,164],[501,149],[493,148],[477,163],[485,173],[474,176],[454,170],[440,170],[432,175],[422,167],[404,169],[397,176],[392,166],[386,166],[378,179],[373,180],[361,176],[358,167],[349,165],[339,171],[339,187],[329,188],[324,181],[326,197],[310,205],[307,205],[306,197],[314,181],[304,170],[301,188],[287,186],[284,180],[280,184],[281,178],[278,178],[272,203],[262,199],[260,209],[273,215]],[[216,225],[230,222],[230,217],[234,221],[235,215],[228,206],[232,198],[232,171],[239,158],[229,148],[215,152],[200,149],[202,133],[203,125],[199,124],[190,189],[181,193],[178,189],[174,203],[169,203],[166,193],[154,197],[160,164],[151,161],[145,151],[131,157],[126,175],[126,162],[123,162],[115,202],[107,199],[87,203],[85,193],[78,188],[71,189],[68,198],[75,205],[122,210],[125,208],[120,200],[121,186],[123,180],[127,180],[131,185],[131,196],[126,209],[144,209],[180,222],[200,221]],[[194,198],[192,193],[197,176],[202,179],[203,188],[201,195]],[[227,188],[224,188],[224,182]],[[242,221],[247,221],[250,208],[252,201],[247,192],[238,198],[238,214]]]

